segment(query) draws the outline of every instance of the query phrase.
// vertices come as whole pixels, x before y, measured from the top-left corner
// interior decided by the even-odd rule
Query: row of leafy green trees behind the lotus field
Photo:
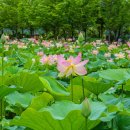
[[[118,40],[130,33],[130,0],[0,0],[0,30],[34,35],[42,28],[53,38],[104,35]]]

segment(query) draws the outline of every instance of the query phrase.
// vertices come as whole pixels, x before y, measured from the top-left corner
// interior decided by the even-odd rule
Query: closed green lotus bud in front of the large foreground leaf
[[[87,98],[82,102],[82,115],[88,117],[91,113],[90,103]]]

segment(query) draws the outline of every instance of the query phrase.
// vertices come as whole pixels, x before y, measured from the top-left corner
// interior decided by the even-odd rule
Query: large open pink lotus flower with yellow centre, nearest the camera
[[[60,71],[59,76],[85,75],[87,73],[84,65],[88,60],[81,62],[81,53],[77,57],[70,56],[67,60],[61,55],[58,56],[57,69]]]

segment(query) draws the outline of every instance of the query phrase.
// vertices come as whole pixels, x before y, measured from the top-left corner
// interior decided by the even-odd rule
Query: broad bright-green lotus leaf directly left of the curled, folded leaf
[[[40,82],[38,75],[26,71],[12,75],[7,80],[7,84],[15,85],[22,92],[36,92],[43,89],[43,85]]]

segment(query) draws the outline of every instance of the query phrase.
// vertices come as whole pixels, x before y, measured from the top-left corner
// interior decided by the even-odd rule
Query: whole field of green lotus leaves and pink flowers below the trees
[[[130,42],[0,43],[0,129],[130,130]]]

